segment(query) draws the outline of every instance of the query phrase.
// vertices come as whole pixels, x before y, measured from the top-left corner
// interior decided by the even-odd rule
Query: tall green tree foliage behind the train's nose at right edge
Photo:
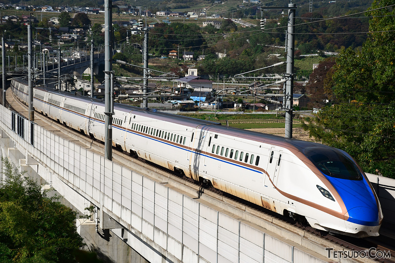
[[[375,0],[371,10],[391,4]],[[340,53],[332,77],[334,102],[305,128],[324,144],[349,152],[365,171],[395,178],[395,10],[367,15],[369,39],[359,51]]]

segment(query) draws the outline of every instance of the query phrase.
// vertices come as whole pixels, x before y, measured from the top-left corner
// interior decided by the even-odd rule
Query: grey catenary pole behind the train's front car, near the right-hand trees
[[[285,137],[292,138],[292,107],[293,107],[293,58],[295,52],[295,9],[296,4],[288,4],[288,43],[287,43],[287,71],[286,77],[286,105],[285,105]]]

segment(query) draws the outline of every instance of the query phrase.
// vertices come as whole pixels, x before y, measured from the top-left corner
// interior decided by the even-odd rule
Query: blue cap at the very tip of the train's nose
[[[379,225],[379,214],[377,210],[369,207],[354,207],[344,214],[344,220],[359,225],[375,226]]]

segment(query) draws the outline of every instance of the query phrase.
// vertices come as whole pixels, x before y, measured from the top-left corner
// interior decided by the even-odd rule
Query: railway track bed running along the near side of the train
[[[18,105],[14,105],[14,103],[17,103]],[[15,97],[12,97],[10,107],[14,111],[18,111],[18,109],[20,107],[23,107],[25,110],[27,108],[26,105],[21,103]],[[27,110],[26,110],[26,112],[27,112]],[[38,113],[37,113],[37,115],[38,115]],[[55,122],[54,120],[52,120],[49,117],[40,115],[39,118],[40,118],[40,120],[45,122],[47,125],[56,127],[58,130],[60,130],[62,132],[66,131],[66,133],[65,133],[66,135],[68,135],[68,136],[71,135],[70,137],[78,139],[81,143],[87,145],[88,147],[94,145],[95,148],[101,148],[101,149],[104,148],[104,143],[102,141],[92,139],[88,135],[85,135],[83,133],[75,131],[63,124],[58,123],[58,122]],[[300,231],[308,232],[308,233],[310,233],[322,240],[329,241],[331,244],[333,244],[333,246],[335,246],[335,245],[340,246],[342,248],[346,248],[348,250],[359,252],[359,253],[363,252],[363,251],[367,251],[370,248],[374,248],[374,251],[376,253],[378,253],[379,255],[380,255],[380,252],[378,252],[378,251],[381,251],[381,252],[389,251],[389,253],[391,255],[391,259],[383,259],[380,257],[376,257],[376,258],[373,258],[373,260],[375,260],[376,262],[382,262],[382,263],[395,263],[395,251],[390,249],[393,247],[393,244],[395,244],[394,239],[387,238],[387,240],[385,240],[385,242],[377,242],[377,240],[375,240],[374,238],[369,238],[369,240],[368,239],[356,239],[356,238],[347,237],[347,236],[343,236],[343,235],[332,235],[331,233],[328,233],[326,231],[318,231],[317,229],[314,229],[314,228],[310,227],[309,225],[297,222],[290,217],[282,216],[282,215],[277,214],[271,210],[265,209],[265,208],[260,207],[256,204],[250,203],[248,201],[245,201],[243,199],[240,199],[238,197],[230,195],[229,193],[217,190],[217,189],[213,188],[212,186],[207,187],[207,186],[203,185],[203,183],[201,183],[201,182],[197,182],[197,181],[193,180],[192,178],[186,177],[185,175],[177,174],[174,171],[171,171],[169,169],[166,169],[166,168],[156,165],[154,163],[150,163],[149,161],[146,161],[142,158],[131,156],[130,154],[124,152],[120,148],[113,147],[113,152],[114,152],[114,155],[118,157],[115,159],[118,159],[118,160],[122,160],[122,159],[131,160],[132,159],[132,162],[136,163],[137,165],[144,166],[144,167],[147,167],[147,166],[151,167],[151,169],[156,172],[161,171],[162,174],[166,174],[165,176],[171,178],[171,180],[175,180],[175,181],[182,180],[184,182],[188,182],[188,186],[194,188],[194,190],[196,190],[196,192],[198,193],[198,196],[201,196],[203,194],[209,194],[211,197],[214,197],[218,200],[227,199],[228,200],[227,203],[229,203],[229,204],[234,203],[234,204],[236,204],[236,207],[239,209],[243,209],[242,207],[248,207],[250,210],[254,210],[255,211],[253,213],[254,216],[258,216],[263,220],[267,220],[266,219],[267,216],[276,218],[275,221],[282,222],[282,224],[278,224],[278,223],[272,221],[273,224],[277,224],[278,226],[283,227],[283,228],[285,228],[289,231],[292,231],[293,233],[297,233],[299,235],[300,235]],[[285,227],[284,227],[284,225],[285,225]],[[299,231],[297,229],[299,229]],[[371,255],[374,255],[374,254],[371,254]],[[361,260],[359,260],[359,261],[361,261]],[[367,261],[362,260],[361,262],[367,262]]]

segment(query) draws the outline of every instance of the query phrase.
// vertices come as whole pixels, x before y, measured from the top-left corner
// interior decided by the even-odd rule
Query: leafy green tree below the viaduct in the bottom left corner
[[[2,161],[7,179],[0,185],[0,262],[77,262],[73,253],[85,246],[76,231],[77,213]]]

